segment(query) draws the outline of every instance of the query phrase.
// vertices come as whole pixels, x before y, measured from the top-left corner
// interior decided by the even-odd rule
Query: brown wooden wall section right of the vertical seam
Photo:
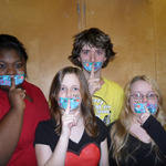
[[[111,35],[116,59],[104,75],[122,86],[137,74],[157,80],[166,100],[166,1],[87,0],[86,28]]]

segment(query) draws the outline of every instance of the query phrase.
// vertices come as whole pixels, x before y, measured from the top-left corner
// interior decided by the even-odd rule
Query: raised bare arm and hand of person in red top
[[[24,91],[15,89],[14,83],[9,90],[10,110],[0,121],[0,165],[7,165],[11,158],[23,124],[23,112],[25,108],[23,98]]]

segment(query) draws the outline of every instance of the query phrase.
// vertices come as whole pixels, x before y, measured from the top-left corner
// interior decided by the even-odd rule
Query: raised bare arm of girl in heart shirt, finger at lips
[[[75,116],[77,114],[77,112],[75,114],[69,114],[69,112],[70,104],[68,104],[68,107],[62,116],[62,132],[54,152],[52,153],[48,145],[35,145],[35,155],[39,166],[64,166],[71,127],[76,125]]]

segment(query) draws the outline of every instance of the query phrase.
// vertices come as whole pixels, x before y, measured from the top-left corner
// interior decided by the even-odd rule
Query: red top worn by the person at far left
[[[22,132],[8,166],[37,166],[33,146],[35,128],[39,122],[50,118],[49,105],[41,90],[27,81],[22,83],[22,86],[33,102],[31,103],[24,100],[25,110]],[[7,93],[0,90],[0,120],[6,115],[9,108],[10,105]]]

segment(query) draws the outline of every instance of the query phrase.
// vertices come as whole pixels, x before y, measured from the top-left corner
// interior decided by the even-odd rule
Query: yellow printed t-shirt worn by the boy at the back
[[[118,118],[121,113],[124,91],[115,82],[104,79],[104,84],[92,97],[95,115],[106,125]]]

